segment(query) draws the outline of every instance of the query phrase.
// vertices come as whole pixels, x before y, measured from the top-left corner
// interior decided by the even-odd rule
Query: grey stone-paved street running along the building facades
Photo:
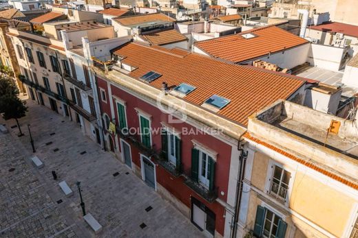
[[[28,106],[28,115],[19,120],[25,136],[17,137],[14,120],[0,119],[10,130],[0,132],[0,237],[202,237],[123,163],[83,136],[74,122],[30,100]],[[45,164],[41,169],[30,163],[28,123],[34,154]],[[56,181],[52,170],[59,176]],[[74,191],[69,198],[58,186],[63,180]],[[87,213],[103,226],[97,235],[83,221],[76,181],[81,181]],[[153,209],[147,212],[148,206]]]

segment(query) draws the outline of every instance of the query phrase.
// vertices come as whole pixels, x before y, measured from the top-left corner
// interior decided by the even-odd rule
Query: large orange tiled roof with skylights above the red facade
[[[192,104],[201,105],[214,94],[231,100],[217,113],[244,125],[253,112],[277,99],[287,99],[305,83],[293,76],[258,71],[182,49],[128,43],[114,54],[125,57],[123,63],[138,67],[129,73],[132,78],[140,78],[149,71],[162,74],[150,83],[156,88],[162,82],[167,82],[169,88],[181,83],[195,86],[184,97]]]

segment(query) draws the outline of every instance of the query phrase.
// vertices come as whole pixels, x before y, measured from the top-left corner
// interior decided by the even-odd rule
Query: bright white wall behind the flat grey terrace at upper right
[[[307,61],[310,65],[331,71],[339,71],[344,48],[310,44]]]

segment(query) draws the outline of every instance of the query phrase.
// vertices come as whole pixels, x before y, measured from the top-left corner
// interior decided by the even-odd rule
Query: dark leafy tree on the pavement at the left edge
[[[3,113],[3,119],[15,119],[19,127],[19,136],[23,136],[18,119],[25,116],[28,108],[25,102],[19,97],[19,91],[11,78],[6,75],[0,76],[0,113]]]

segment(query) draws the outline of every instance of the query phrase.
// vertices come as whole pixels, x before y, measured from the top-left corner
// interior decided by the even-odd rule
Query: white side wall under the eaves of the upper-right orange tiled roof
[[[286,49],[284,53],[271,53],[271,56],[264,56],[255,60],[264,60],[271,64],[277,64],[282,69],[292,69],[299,64],[304,64],[307,61],[308,51],[310,50],[310,44],[300,45],[292,49]],[[242,64],[251,65],[253,60],[241,62]]]

